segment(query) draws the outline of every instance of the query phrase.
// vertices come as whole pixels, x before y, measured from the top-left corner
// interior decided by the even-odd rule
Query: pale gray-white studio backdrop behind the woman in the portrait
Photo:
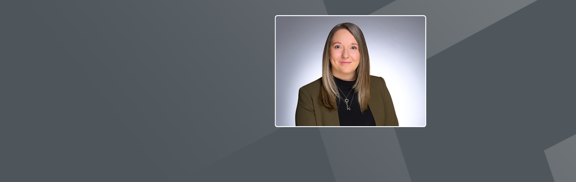
[[[362,29],[370,75],[385,79],[400,126],[425,126],[423,16],[276,17],[276,126],[295,126],[298,89],[322,77],[326,37],[342,22]]]

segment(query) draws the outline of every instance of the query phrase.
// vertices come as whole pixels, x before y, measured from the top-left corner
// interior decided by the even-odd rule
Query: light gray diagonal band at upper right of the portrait
[[[430,58],[536,0],[397,0],[371,15],[425,15]]]

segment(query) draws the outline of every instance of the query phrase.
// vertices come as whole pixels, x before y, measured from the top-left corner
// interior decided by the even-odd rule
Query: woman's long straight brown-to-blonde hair
[[[365,113],[368,109],[368,100],[370,98],[370,58],[368,57],[368,48],[366,47],[366,40],[364,34],[357,25],[345,22],[338,24],[332,28],[328,34],[326,44],[324,45],[324,54],[322,55],[322,84],[320,85],[320,93],[318,98],[320,103],[324,104],[330,110],[338,110],[336,100],[339,100],[340,94],[336,88],[334,75],[332,75],[332,64],[330,63],[330,47],[334,33],[340,29],[347,29],[352,33],[354,39],[358,42],[358,51],[360,52],[360,62],[356,68],[356,84],[353,88],[358,93],[358,103],[360,110]],[[338,98],[338,99],[336,99]]]

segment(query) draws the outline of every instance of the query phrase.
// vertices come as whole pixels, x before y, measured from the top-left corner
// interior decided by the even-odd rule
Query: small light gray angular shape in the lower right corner
[[[555,182],[576,181],[576,135],[544,150]]]

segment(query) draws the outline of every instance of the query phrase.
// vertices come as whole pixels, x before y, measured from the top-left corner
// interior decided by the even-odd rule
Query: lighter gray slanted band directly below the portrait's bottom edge
[[[394,128],[323,127],[320,134],[336,181],[411,181]]]

